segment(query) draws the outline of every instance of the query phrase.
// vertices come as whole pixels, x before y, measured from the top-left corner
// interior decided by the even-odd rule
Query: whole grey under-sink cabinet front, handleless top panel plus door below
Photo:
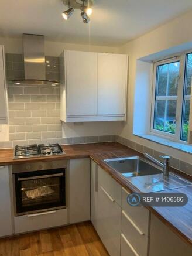
[[[120,255],[121,186],[98,166],[97,233],[111,256]]]

